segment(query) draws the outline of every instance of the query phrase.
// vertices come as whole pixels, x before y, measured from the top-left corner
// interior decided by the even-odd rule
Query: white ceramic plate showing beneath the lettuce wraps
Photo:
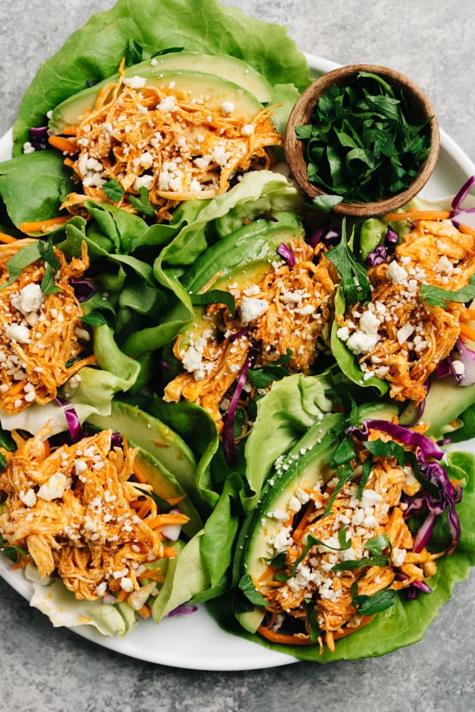
[[[307,55],[313,76],[338,65],[321,57]],[[11,157],[11,132],[0,138],[0,161]],[[439,159],[422,194],[439,198],[455,194],[471,175],[475,164],[441,131]],[[33,590],[20,571],[0,554],[0,576],[27,600]],[[156,626],[140,621],[125,638],[105,637],[90,626],[75,628],[81,636],[133,658],[189,670],[254,670],[298,662],[296,658],[268,650],[230,635],[216,624],[205,607],[192,615],[166,618]]]

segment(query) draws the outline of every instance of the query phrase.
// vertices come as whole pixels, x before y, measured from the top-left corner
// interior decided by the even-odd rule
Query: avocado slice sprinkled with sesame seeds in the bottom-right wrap
[[[281,528],[281,521],[270,516],[272,511],[288,509],[288,502],[295,496],[298,488],[313,488],[316,483],[326,481],[332,476],[328,468],[328,460],[338,446],[338,439],[330,433],[337,425],[342,416],[333,414],[325,417],[318,428],[320,434],[315,439],[317,431],[310,429],[312,436],[308,434],[304,438],[308,439],[310,447],[306,449],[300,441],[297,446],[286,456],[286,467],[279,471],[276,476],[268,479],[268,484],[264,489],[261,500],[249,515],[249,521],[245,523],[246,535],[244,541],[240,542],[242,550],[240,576],[249,574],[253,580],[259,580],[266,571],[269,557],[272,557],[272,548],[268,545],[271,536]],[[310,438],[310,439],[309,439]],[[311,446],[311,442],[315,444]],[[298,457],[295,457],[298,452]],[[235,572],[236,576],[236,572]],[[256,632],[261,624],[265,609],[255,607],[245,613],[236,613],[236,617],[241,625],[249,632]]]

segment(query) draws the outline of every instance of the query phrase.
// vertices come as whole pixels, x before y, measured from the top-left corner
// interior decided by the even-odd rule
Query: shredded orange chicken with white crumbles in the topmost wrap
[[[283,141],[270,109],[248,122],[226,103],[216,109],[209,97],[190,98],[174,82],[156,88],[134,79],[127,80],[121,66],[118,83],[101,90],[93,110],[68,127],[77,155],[66,163],[83,186],[63,205],[73,213],[88,197],[110,201],[102,186],[115,179],[125,191],[121,208],[135,211],[128,196],[145,187],[157,220],[169,220],[180,201],[213,198],[236,174],[258,164],[267,168],[266,148]]]

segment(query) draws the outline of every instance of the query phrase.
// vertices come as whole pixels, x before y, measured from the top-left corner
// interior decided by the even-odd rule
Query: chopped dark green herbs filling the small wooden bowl
[[[409,122],[404,91],[379,75],[360,72],[330,86],[310,124],[296,127],[307,141],[310,183],[346,202],[367,203],[409,187],[430,150],[429,124]]]

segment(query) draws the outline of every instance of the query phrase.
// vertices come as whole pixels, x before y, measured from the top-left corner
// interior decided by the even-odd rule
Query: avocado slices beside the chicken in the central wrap
[[[234,249],[227,253],[224,251],[226,261],[219,261],[219,258],[209,259],[206,257],[207,265],[200,270],[199,264],[197,264],[194,278],[189,278],[184,286],[187,290],[197,293],[218,271],[221,276],[209,287],[210,289],[228,291],[229,285],[235,284],[237,285],[236,288],[242,292],[254,284],[260,284],[266,275],[273,271],[271,262],[279,258],[277,248],[281,243],[290,245],[291,242],[297,239],[303,239],[303,230],[300,228],[271,228],[266,233],[265,239],[263,239],[261,249],[256,251],[256,244],[254,244],[251,254],[246,254],[246,250],[242,248],[240,254],[239,250],[234,251]],[[239,241],[236,241],[233,247],[236,244],[239,246]],[[258,258],[256,258],[256,254],[259,255]],[[234,256],[236,256],[236,261]],[[190,283],[192,286],[189,286]],[[204,319],[206,309],[200,306],[194,308],[194,314],[193,322],[183,332],[183,346],[202,336],[204,331],[217,328],[219,315],[215,315],[212,320],[209,320],[209,318]]]

